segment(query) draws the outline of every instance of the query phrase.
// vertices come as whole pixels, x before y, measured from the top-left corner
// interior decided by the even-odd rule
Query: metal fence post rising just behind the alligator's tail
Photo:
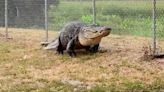
[[[48,41],[48,9],[47,9],[47,0],[45,0],[45,31],[46,31],[46,42]]]

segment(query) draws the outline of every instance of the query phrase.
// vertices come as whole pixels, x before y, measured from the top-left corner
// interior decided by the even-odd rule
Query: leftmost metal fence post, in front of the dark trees
[[[8,0],[5,0],[5,37],[8,39]]]

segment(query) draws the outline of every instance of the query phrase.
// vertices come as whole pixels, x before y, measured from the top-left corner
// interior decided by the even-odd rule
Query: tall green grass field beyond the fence
[[[164,37],[164,2],[157,1],[157,35]],[[97,23],[112,27],[114,34],[151,36],[151,0],[97,1]],[[58,7],[51,7],[50,28],[59,30],[70,21],[83,21],[92,24],[91,1],[61,1]]]

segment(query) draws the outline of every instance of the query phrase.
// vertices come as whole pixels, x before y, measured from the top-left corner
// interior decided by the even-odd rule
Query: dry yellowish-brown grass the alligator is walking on
[[[3,30],[0,28],[1,32]],[[142,88],[141,84],[153,86],[164,79],[163,59],[140,59],[144,54],[143,47],[150,42],[149,38],[109,35],[101,42],[101,47],[107,52],[79,52],[76,58],[70,58],[67,54],[61,56],[41,48],[43,30],[10,28],[9,34],[13,39],[6,41],[0,38],[1,91],[103,91],[102,85],[107,86],[106,90],[111,85],[117,91],[133,90],[130,83],[137,89]],[[57,34],[50,32],[50,38]],[[163,45],[164,41],[160,43]],[[70,81],[81,84],[71,85]],[[160,81],[155,85],[161,90],[163,83]],[[84,87],[79,88],[79,85]]]

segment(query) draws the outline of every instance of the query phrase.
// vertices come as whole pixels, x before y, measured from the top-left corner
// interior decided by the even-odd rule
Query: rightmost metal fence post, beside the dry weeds
[[[153,55],[156,54],[156,0],[153,0],[153,25],[152,25],[152,33],[153,33]]]

